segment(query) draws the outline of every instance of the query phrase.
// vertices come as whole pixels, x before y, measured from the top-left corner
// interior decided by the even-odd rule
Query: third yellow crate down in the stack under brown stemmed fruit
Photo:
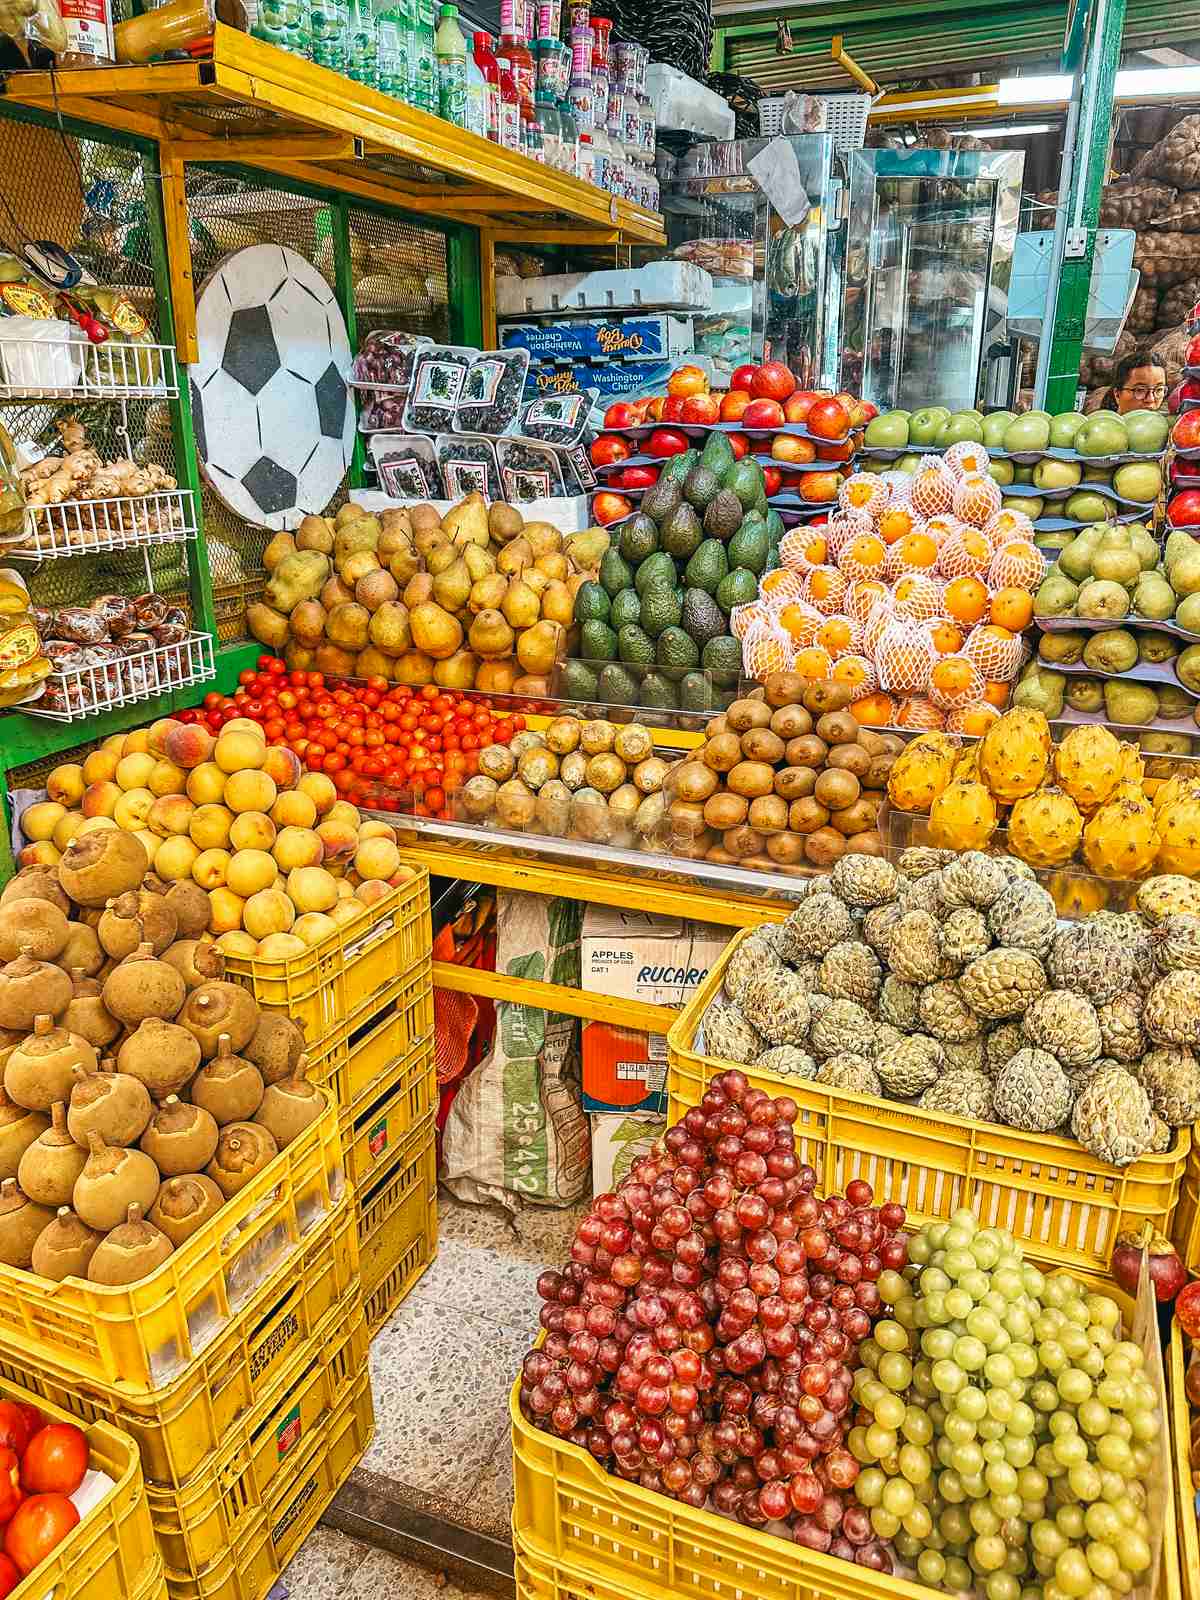
[[[179,1490],[147,1485],[154,1533],[173,1573],[197,1576],[222,1550],[234,1549],[270,1498],[272,1485],[298,1459],[294,1453],[366,1371],[370,1344],[362,1299],[355,1294],[341,1310],[325,1347],[312,1341],[294,1350],[282,1390],[245,1413],[195,1477]],[[370,1413],[358,1421],[366,1427]]]

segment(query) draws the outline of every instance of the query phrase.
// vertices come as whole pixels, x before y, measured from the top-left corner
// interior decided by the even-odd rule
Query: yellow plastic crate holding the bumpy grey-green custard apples
[[[698,1035],[749,931],[725,946],[667,1032],[670,1122],[701,1102],[714,1074],[733,1066],[704,1056]],[[770,1094],[790,1094],[800,1107],[797,1155],[816,1168],[819,1194],[864,1178],[878,1200],[899,1200],[914,1224],[944,1221],[968,1206],[984,1226],[1006,1227],[1043,1259],[1099,1272],[1107,1272],[1122,1230],[1150,1222],[1160,1234],[1171,1232],[1192,1149],[1186,1128],[1176,1130],[1163,1155],[1115,1168],[1059,1134],[1021,1133],[773,1072],[738,1070]]]

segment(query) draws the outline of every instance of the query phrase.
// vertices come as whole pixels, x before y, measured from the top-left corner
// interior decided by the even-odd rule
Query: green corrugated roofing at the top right
[[[752,78],[766,93],[786,88],[853,88],[829,59],[842,34],[845,50],[878,83],[894,86],[925,77],[1010,70],[1022,61],[1054,59],[1062,48],[1064,6],[995,0],[866,0],[862,5],[790,3],[747,6],[717,0],[725,34],[725,70]],[[778,19],[786,18],[792,50],[779,54]],[[1128,0],[1125,48],[1162,53],[1195,37],[1195,13],[1173,0]]]

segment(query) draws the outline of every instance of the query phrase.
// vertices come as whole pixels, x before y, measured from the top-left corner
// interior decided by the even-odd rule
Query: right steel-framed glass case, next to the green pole
[[[880,410],[970,410],[1006,338],[1024,154],[851,150],[846,163],[840,387]]]

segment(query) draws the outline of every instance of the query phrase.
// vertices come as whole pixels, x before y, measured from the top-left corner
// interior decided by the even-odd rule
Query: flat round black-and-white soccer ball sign
[[[350,341],[304,256],[251,245],[197,301],[192,424],[205,478],[258,528],[296,528],[338,491],[354,450]]]

